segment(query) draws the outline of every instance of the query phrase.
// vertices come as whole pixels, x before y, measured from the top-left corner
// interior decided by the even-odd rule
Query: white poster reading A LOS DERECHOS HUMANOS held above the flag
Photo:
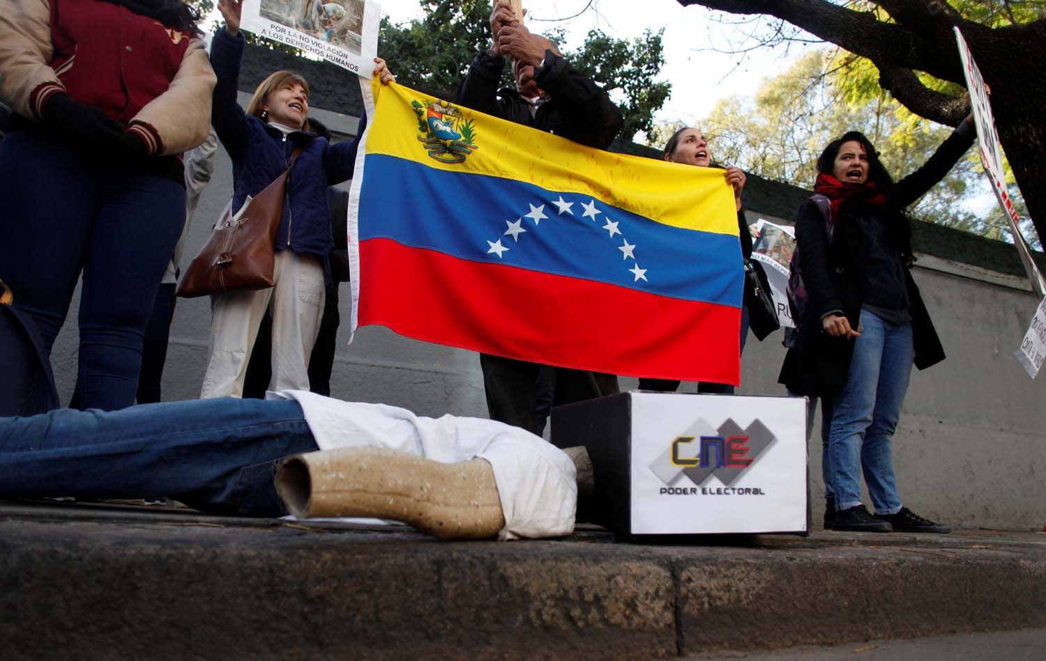
[[[240,26],[369,79],[381,18],[373,0],[244,0]]]

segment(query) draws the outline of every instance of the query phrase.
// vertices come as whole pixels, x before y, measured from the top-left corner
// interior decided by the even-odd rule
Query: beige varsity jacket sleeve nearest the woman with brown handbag
[[[182,154],[199,146],[210,131],[210,95],[217,79],[203,41],[194,39],[170,87],[141,109],[128,131],[138,134],[150,154]]]

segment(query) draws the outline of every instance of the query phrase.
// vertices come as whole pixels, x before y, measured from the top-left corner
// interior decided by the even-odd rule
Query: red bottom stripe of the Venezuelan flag
[[[474,262],[389,239],[360,243],[359,325],[621,376],[741,380],[741,310]]]

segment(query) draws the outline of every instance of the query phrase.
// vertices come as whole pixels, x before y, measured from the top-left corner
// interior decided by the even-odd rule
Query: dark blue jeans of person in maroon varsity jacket
[[[83,272],[83,408],[134,404],[142,335],[184,223],[185,189],[175,181],[112,162],[91,167],[32,133],[0,142],[0,279],[48,355]]]

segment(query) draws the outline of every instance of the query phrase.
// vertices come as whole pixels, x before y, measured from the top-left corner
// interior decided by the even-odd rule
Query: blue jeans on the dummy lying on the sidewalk
[[[0,418],[0,498],[170,496],[279,516],[277,462],[316,450],[297,402],[207,399]]]

